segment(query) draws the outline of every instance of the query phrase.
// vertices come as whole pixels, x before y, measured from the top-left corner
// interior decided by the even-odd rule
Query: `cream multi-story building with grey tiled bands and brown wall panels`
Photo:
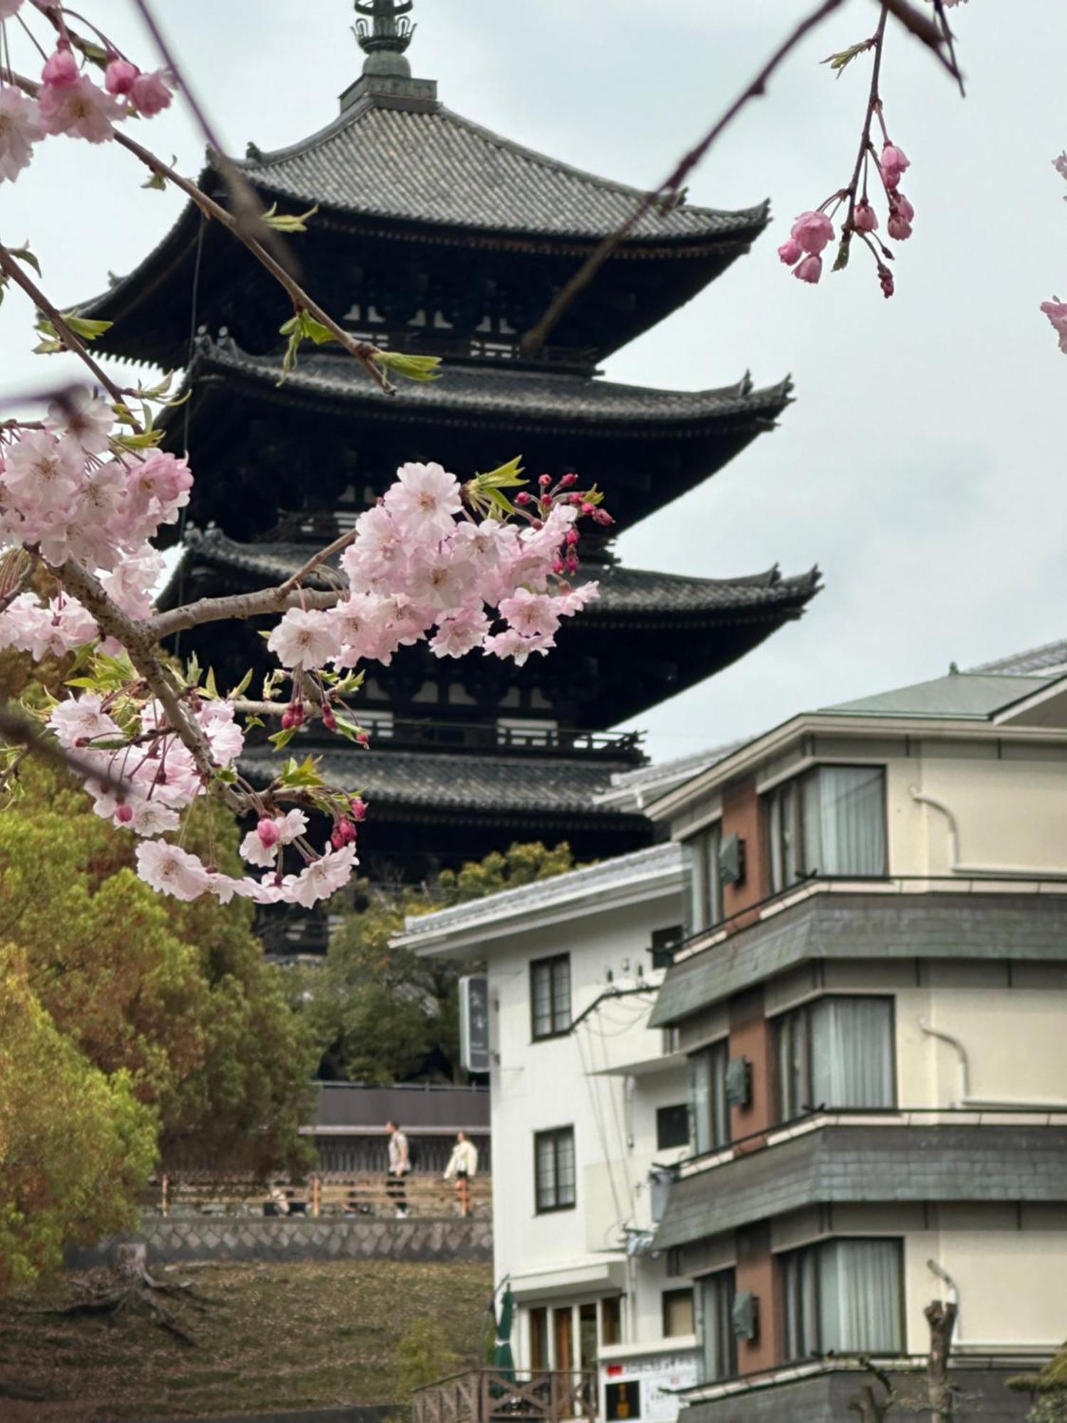
[[[653,1242],[697,1299],[687,1423],[848,1419],[871,1358],[922,1402],[949,1292],[965,1417],[1063,1342],[1064,670],[798,716],[652,805],[689,871],[650,1017],[691,1083]]]

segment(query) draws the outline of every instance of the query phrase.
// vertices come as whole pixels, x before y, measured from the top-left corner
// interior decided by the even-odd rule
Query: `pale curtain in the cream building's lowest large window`
[[[819,1349],[899,1353],[899,1241],[829,1241],[819,1248]]]

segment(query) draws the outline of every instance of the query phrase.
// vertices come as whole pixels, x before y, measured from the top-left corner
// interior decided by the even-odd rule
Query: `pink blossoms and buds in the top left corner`
[[[0,21],[11,18],[23,0],[0,0]],[[28,9],[28,7],[27,7]],[[13,182],[33,158],[34,145],[50,134],[104,144],[114,125],[129,117],[151,118],[171,102],[172,80],[164,70],[141,71],[114,50],[100,61],[102,84],[80,63],[61,37],[41,70],[34,95],[13,84],[0,87],[0,182]]]

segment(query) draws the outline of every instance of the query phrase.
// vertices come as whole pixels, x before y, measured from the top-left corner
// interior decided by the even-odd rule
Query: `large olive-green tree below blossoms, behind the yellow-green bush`
[[[27,766],[0,811],[0,965],[64,1037],[156,1109],[165,1165],[299,1167],[316,1047],[263,962],[250,908],[156,895],[134,842],[73,785]],[[206,808],[186,844],[222,868],[236,827]]]

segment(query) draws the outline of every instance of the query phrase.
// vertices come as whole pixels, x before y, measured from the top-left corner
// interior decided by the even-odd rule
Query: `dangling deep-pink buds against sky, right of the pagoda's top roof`
[[[871,252],[875,256],[882,292],[885,296],[892,296],[893,275],[883,260],[892,260],[892,252],[879,238],[874,236],[874,233],[879,229],[879,222],[878,213],[868,198],[866,158],[868,155],[865,155],[864,159],[864,186],[861,195],[856,196],[855,192],[842,189],[841,192],[835,192],[831,198],[827,198],[822,206],[814,212],[802,212],[794,222],[787,240],[778,248],[778,256],[785,266],[792,268],[792,275],[798,277],[798,280],[811,283],[818,282],[822,276],[822,252],[837,236],[834,222],[831,219],[837,213],[838,208],[846,202],[848,211],[841,225],[841,236],[845,242],[845,250],[848,250],[846,245],[851,240],[852,233],[859,233],[861,240],[871,248]],[[888,206],[885,225],[886,232],[893,242],[906,242],[912,235],[915,208],[901,192],[901,178],[905,171],[911,168],[911,162],[908,161],[903,149],[896,144],[891,144],[886,138],[882,152],[874,161],[874,168],[885,192]]]

